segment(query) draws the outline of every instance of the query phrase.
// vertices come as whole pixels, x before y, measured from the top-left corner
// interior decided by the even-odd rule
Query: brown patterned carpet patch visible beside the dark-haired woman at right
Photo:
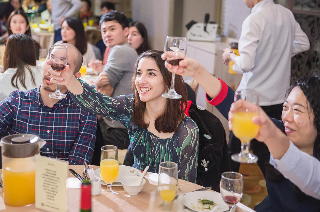
[[[240,202],[253,209],[268,195],[266,181],[257,163],[240,164],[239,173],[244,177],[244,194]]]

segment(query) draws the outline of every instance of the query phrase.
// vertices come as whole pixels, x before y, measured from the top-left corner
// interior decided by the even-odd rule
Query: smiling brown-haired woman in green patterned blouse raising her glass
[[[198,164],[199,131],[196,123],[185,116],[186,86],[181,76],[175,88],[181,99],[166,99],[171,73],[161,60],[163,52],[150,50],[137,59],[132,76],[133,94],[108,97],[80,82],[71,71],[55,74],[52,83],[67,86],[72,99],[86,111],[119,121],[127,129],[134,155],[133,167],[158,172],[159,164],[172,161],[178,164],[178,176],[195,183]],[[60,81],[62,80],[62,81]],[[78,94],[78,95],[76,95]]]

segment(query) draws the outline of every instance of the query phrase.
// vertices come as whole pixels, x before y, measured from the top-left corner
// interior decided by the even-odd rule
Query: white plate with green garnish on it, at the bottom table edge
[[[183,204],[187,207],[190,208],[191,210],[194,211],[199,211],[199,212],[207,212],[210,211],[210,209],[199,209],[195,208],[192,206],[197,207],[197,199],[207,199],[207,200],[212,200],[213,202],[217,203],[219,205],[219,208],[216,210],[216,212],[222,212],[229,210],[229,206],[227,203],[225,203],[221,197],[220,193],[217,192],[212,192],[212,191],[194,191],[194,192],[189,192],[183,196]],[[192,203],[192,204],[191,204]]]

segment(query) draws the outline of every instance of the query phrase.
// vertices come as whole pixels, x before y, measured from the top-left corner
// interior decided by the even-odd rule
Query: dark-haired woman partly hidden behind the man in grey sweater
[[[141,22],[135,21],[129,24],[128,43],[138,55],[150,49],[147,29]]]

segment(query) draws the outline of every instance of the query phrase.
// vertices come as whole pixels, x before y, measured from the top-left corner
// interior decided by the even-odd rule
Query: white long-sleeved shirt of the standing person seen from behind
[[[291,57],[310,48],[293,14],[273,0],[262,0],[242,24],[239,54],[232,69],[243,74],[237,91],[260,93],[260,106],[282,104],[290,85]]]

